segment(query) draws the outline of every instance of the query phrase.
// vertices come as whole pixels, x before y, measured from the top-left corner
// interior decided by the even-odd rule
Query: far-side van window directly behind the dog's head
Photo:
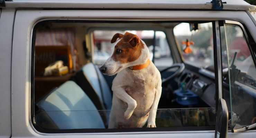
[[[101,66],[112,54],[111,50],[113,44],[110,43],[112,36],[116,33],[124,34],[127,31],[136,34],[141,40],[143,40],[147,44],[150,51],[150,60],[152,61],[154,57],[153,61],[156,67],[164,68],[169,67],[173,64],[170,46],[166,40],[165,33],[163,31],[153,30],[94,30],[94,63]]]

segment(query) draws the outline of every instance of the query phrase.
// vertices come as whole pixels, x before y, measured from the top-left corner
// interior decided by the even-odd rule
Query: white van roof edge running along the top
[[[165,9],[211,10],[211,0],[12,0],[6,7],[15,8],[83,8],[83,9]],[[252,10],[256,6],[243,0],[223,0],[222,10]]]

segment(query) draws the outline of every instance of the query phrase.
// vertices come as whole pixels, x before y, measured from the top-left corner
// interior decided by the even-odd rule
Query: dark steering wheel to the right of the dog
[[[171,76],[167,78],[162,78],[162,86],[166,86],[171,80],[173,80],[175,77],[179,76],[182,71],[185,69],[185,65],[183,63],[174,63],[171,67],[167,67],[166,69],[160,71],[161,76],[162,73],[168,71],[171,68],[179,67]]]

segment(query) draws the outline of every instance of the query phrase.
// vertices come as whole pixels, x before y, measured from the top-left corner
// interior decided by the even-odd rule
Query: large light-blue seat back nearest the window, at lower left
[[[37,103],[59,129],[105,128],[91,99],[74,82],[66,81]]]

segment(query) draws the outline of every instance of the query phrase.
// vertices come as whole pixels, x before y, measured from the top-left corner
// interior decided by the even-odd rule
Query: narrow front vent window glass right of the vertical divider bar
[[[256,68],[241,28],[220,27],[224,89],[230,92],[230,126],[248,126],[256,117]],[[225,91],[224,91],[225,92]]]

